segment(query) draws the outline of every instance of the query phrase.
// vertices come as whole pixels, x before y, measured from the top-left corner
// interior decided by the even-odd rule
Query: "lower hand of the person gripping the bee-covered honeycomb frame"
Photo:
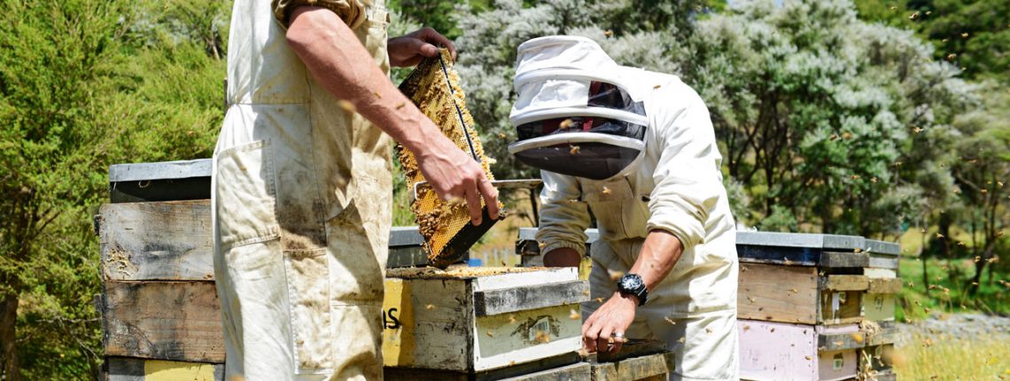
[[[481,197],[488,206],[488,215],[498,219],[498,190],[484,175],[484,169],[473,157],[441,134],[431,138],[420,152],[415,152],[417,168],[424,179],[443,200],[465,199],[470,218],[481,224]]]

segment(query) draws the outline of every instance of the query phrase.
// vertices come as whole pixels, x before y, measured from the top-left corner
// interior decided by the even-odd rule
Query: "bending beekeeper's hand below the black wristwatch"
[[[582,344],[589,353],[617,352],[634,320],[638,298],[615,292],[582,324]]]

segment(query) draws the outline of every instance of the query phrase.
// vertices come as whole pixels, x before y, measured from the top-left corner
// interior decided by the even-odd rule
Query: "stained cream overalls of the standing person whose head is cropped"
[[[278,20],[297,1],[281,3],[231,14],[212,193],[225,378],[379,380],[392,139],[315,82]],[[388,15],[370,3],[313,2],[388,71]]]

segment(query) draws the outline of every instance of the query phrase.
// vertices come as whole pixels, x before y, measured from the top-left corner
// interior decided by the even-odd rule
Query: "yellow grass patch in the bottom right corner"
[[[901,380],[1010,380],[1010,344],[1002,338],[917,335],[898,348],[894,368]]]

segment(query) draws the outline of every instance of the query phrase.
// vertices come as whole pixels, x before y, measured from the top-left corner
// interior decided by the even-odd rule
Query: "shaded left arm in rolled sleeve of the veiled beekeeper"
[[[586,255],[586,227],[589,227],[589,209],[582,201],[579,179],[540,171],[543,191],[540,192],[540,228],[536,241],[543,265],[548,267],[578,267]]]

